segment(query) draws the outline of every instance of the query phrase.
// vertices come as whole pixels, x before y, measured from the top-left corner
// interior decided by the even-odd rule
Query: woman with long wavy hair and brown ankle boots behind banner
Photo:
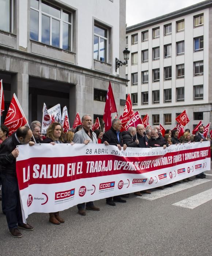
[[[43,140],[43,143],[50,143],[52,145],[64,143],[64,132],[61,127],[61,124],[58,122],[54,122],[49,125],[46,130],[46,139]],[[60,225],[60,223],[64,223],[64,219],[62,219],[59,215],[59,212],[49,212],[49,222]]]

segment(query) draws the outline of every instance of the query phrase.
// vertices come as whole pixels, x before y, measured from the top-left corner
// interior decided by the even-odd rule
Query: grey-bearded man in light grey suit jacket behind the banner
[[[76,132],[75,135],[73,136],[73,142],[86,144],[86,145],[88,143],[97,144],[98,140],[96,138],[96,134],[91,130],[92,119],[90,115],[86,114],[82,117],[82,125],[83,125],[82,130]],[[86,215],[85,208],[87,210],[92,210],[92,211],[100,210],[98,207],[94,205],[92,201],[88,203],[77,204],[77,208],[78,208],[78,213],[80,215]]]

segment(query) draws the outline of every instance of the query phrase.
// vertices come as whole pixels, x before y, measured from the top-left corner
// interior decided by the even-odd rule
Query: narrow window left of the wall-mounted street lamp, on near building
[[[94,60],[107,62],[108,29],[94,24]]]

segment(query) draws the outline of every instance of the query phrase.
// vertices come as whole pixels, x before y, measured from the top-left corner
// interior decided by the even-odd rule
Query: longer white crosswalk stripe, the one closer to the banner
[[[171,188],[165,188],[164,190],[152,191],[152,193],[150,195],[145,194],[143,196],[136,196],[136,197],[139,198],[139,199],[145,199],[145,200],[155,200],[155,199],[158,199],[158,198],[161,198],[161,197],[164,197],[164,196],[168,196],[168,195],[183,191],[183,190],[188,189],[188,188],[195,187],[197,185],[203,184],[203,183],[208,182],[208,181],[212,181],[212,180],[196,179],[196,180],[193,180],[193,181],[183,182],[181,184],[174,185]]]

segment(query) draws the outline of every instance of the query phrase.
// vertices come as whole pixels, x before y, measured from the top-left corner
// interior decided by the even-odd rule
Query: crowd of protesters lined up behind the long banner
[[[54,122],[50,124],[45,135],[41,134],[41,123],[39,121],[33,121],[31,123],[31,129],[27,126],[20,127],[18,130],[8,137],[8,128],[5,125],[0,127],[0,173],[1,173],[1,185],[2,185],[2,211],[6,215],[8,228],[13,237],[22,237],[19,229],[33,230],[34,228],[28,223],[23,223],[18,181],[16,177],[16,158],[19,151],[16,146],[20,144],[28,144],[33,146],[36,143],[50,143],[53,146],[57,143],[75,143],[88,144],[88,143],[103,143],[105,146],[114,145],[119,150],[127,147],[137,148],[154,148],[154,147],[169,147],[172,144],[179,143],[192,143],[202,142],[207,140],[204,137],[204,127],[200,126],[196,135],[191,135],[190,130],[186,129],[185,133],[178,138],[178,131],[167,129],[164,137],[160,132],[160,127],[147,126],[144,129],[142,124],[137,127],[129,127],[128,131],[121,131],[121,120],[115,118],[112,121],[111,128],[104,134],[100,129],[95,131],[91,130],[92,119],[90,115],[84,115],[82,117],[82,125],[78,125],[76,129],[69,129],[64,134],[63,128],[60,123]],[[35,141],[35,142],[34,142]],[[200,173],[196,178],[205,178],[204,173]],[[190,178],[183,180],[184,182],[192,181]],[[176,183],[176,182],[175,182]],[[178,182],[179,183],[179,182]],[[173,184],[166,185],[172,187]],[[159,187],[158,189],[164,189]],[[134,194],[136,196],[142,196],[142,193],[151,194],[151,191],[137,191]],[[110,206],[116,206],[118,203],[126,203],[123,198],[128,198],[129,194],[119,195],[106,198],[106,204]],[[86,210],[99,211],[100,208],[95,206],[93,202],[81,203],[77,205],[78,213],[80,215],[86,215]],[[64,219],[60,217],[59,212],[49,213],[49,222],[60,225],[64,223]]]

